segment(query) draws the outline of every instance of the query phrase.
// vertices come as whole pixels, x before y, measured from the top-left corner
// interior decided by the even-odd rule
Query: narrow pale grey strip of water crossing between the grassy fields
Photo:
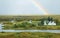
[[[0,32],[49,32],[49,33],[60,33],[60,30],[0,30]]]

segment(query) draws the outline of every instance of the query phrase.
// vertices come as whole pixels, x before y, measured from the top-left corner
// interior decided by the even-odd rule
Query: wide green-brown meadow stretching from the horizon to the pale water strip
[[[52,17],[57,25],[42,25],[42,18]],[[32,23],[29,23],[32,20]],[[3,29],[16,30],[60,30],[60,15],[49,16],[0,16],[0,23],[4,24]]]

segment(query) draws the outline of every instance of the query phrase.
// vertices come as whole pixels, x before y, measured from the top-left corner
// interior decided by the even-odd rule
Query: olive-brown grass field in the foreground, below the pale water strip
[[[60,33],[43,32],[21,32],[21,33],[0,33],[0,38],[60,38]]]

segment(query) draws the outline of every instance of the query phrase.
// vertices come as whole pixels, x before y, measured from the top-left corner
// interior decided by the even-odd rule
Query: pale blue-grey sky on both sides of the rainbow
[[[35,0],[48,14],[60,14],[60,0]],[[44,15],[31,0],[0,0],[0,15]]]

